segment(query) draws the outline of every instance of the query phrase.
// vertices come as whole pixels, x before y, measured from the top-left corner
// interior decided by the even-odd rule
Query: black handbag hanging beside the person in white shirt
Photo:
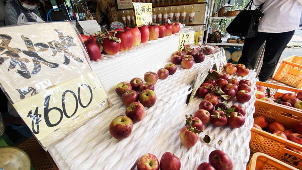
[[[253,0],[249,1],[244,10],[240,12],[226,28],[226,31],[238,37],[251,38],[255,37],[258,32],[258,25],[263,16],[260,11],[263,4],[255,10],[251,10]]]

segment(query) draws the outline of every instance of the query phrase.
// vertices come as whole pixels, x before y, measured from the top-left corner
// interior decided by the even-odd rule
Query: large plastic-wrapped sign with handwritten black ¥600
[[[48,149],[112,106],[71,22],[0,28],[1,89]]]

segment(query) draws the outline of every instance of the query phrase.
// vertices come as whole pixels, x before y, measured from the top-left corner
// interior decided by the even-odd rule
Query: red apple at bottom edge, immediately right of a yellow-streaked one
[[[180,170],[181,162],[177,156],[170,152],[165,152],[162,154],[160,159],[160,169],[161,170]]]

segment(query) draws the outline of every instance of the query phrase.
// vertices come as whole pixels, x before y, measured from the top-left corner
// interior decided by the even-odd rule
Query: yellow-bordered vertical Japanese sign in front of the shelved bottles
[[[136,26],[152,23],[152,3],[133,3]]]

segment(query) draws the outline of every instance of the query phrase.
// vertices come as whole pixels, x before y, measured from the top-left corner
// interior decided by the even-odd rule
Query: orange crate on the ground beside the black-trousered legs
[[[282,60],[274,79],[293,87],[302,88],[302,57],[291,56]]]

